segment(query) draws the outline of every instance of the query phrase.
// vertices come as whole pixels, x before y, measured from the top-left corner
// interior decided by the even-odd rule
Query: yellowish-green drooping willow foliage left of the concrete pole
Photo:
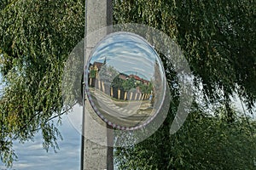
[[[0,4],[0,158],[10,166],[15,140],[42,133],[43,146],[61,138],[61,79],[68,54],[84,37],[84,1],[13,0]]]

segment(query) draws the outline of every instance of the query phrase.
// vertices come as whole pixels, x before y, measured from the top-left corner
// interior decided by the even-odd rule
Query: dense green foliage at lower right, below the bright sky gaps
[[[165,124],[142,143],[117,150],[119,169],[255,169],[255,122],[236,117],[230,125],[221,109],[218,116],[193,110],[177,133],[168,135]]]

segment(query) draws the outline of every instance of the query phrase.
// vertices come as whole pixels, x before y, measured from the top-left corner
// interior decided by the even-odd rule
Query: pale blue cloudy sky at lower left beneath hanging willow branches
[[[63,140],[59,140],[60,150],[57,153],[49,150],[47,153],[42,146],[42,136],[37,134],[34,142],[19,144],[15,142],[14,149],[19,161],[14,162],[10,169],[15,170],[74,170],[80,168],[80,133],[73,127],[68,116],[63,116],[59,127]],[[0,170],[6,169],[0,162]]]

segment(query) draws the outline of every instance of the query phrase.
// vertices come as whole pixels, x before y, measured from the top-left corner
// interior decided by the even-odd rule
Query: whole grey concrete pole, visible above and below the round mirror
[[[86,0],[85,34],[112,25],[111,0]],[[90,51],[96,43],[108,34],[108,30],[89,36],[85,42],[85,54],[88,59]],[[107,130],[108,125],[103,122],[90,106],[88,99],[84,102],[84,138],[82,153],[83,170],[113,169],[113,148],[107,147],[113,142],[113,134]],[[108,138],[107,138],[108,136]],[[83,147],[82,147],[83,148]]]

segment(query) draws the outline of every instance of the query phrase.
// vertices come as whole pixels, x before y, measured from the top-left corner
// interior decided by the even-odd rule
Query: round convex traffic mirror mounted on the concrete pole
[[[143,127],[158,114],[166,95],[160,57],[143,37],[109,34],[87,59],[85,92],[96,114],[110,126]]]

